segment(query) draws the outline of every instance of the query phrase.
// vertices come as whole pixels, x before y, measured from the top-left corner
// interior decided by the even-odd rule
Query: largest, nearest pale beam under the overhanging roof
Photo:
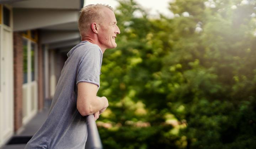
[[[77,22],[79,11],[57,9],[14,9],[14,31],[45,28]]]

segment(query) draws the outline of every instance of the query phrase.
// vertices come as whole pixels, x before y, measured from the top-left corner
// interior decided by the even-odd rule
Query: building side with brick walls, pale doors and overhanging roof
[[[0,147],[52,99],[83,0],[0,0]]]

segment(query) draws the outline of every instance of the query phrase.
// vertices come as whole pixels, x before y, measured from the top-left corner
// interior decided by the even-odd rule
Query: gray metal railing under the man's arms
[[[86,117],[86,125],[88,136],[85,149],[102,149],[100,135],[93,114]]]

